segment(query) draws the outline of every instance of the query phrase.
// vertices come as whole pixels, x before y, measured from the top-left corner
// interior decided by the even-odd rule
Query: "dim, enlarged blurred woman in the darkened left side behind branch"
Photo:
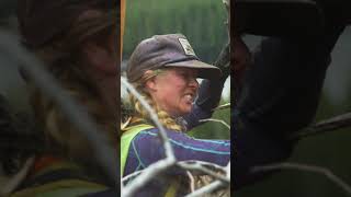
[[[114,125],[120,61],[116,4],[115,0],[20,0],[18,9],[24,45],[44,61],[65,91],[84,106],[113,147],[117,147]],[[12,196],[105,192],[106,177],[99,175],[101,170],[91,159],[88,141],[31,79],[27,83],[44,144],[33,153],[35,160],[27,176]]]

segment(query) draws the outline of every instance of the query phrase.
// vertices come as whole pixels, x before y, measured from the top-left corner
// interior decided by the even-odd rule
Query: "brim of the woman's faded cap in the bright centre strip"
[[[192,68],[199,70],[199,78],[203,79],[214,79],[219,78],[222,76],[220,69],[199,61],[199,60],[188,60],[188,61],[180,61],[173,63],[167,63],[165,67],[180,67],[180,68]]]

